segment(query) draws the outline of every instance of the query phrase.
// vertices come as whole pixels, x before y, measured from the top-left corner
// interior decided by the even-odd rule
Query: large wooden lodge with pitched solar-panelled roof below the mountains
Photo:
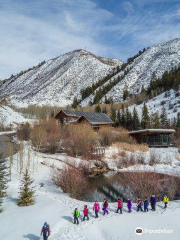
[[[105,113],[61,110],[55,118],[62,124],[89,124],[95,130],[112,128],[114,125]]]

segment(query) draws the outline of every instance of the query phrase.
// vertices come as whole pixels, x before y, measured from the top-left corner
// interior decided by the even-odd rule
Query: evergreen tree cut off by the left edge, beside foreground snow
[[[7,182],[9,181],[8,167],[6,160],[0,155],[0,206],[2,205],[3,198],[6,195]],[[0,209],[1,212],[1,209]]]

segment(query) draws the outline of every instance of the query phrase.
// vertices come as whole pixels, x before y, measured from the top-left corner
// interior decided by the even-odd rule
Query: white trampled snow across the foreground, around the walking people
[[[25,149],[25,155],[27,149],[28,147]],[[73,162],[74,159],[63,154],[48,155],[32,151],[30,156],[31,176],[35,179],[36,203],[29,207],[17,206],[19,173],[17,172],[18,154],[16,154],[12,169],[12,181],[9,182],[8,196],[4,200],[3,212],[0,214],[1,239],[39,240],[40,230],[45,221],[51,226],[50,240],[134,240],[140,238],[135,234],[137,227],[142,227],[144,230],[145,228],[173,230],[173,233],[169,234],[143,234],[141,237],[143,240],[179,239],[180,201],[171,201],[166,211],[163,210],[163,203],[160,202],[157,204],[157,211],[149,213],[137,213],[136,206],[133,204],[133,211],[129,214],[126,204],[124,204],[122,215],[115,213],[117,204],[110,203],[109,215],[102,216],[102,212],[100,212],[98,219],[94,218],[93,203],[87,203],[90,209],[90,220],[86,222],[80,220],[79,226],[74,225],[72,223],[73,209],[78,207],[82,217],[85,202],[72,199],[55,187],[51,181],[51,168],[49,168],[57,161],[55,159],[59,158],[68,163]],[[24,159],[27,161],[26,157]],[[46,165],[41,164],[43,161],[46,161]],[[27,162],[24,163],[24,166],[26,164]],[[59,161],[58,167],[62,166],[63,163]],[[43,186],[40,185],[41,183]]]

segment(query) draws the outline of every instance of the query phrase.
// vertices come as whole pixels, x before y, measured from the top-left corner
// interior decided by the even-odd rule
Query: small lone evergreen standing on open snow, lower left
[[[31,179],[28,169],[23,173],[20,186],[20,197],[18,200],[19,206],[29,206],[34,204],[34,193],[31,185],[34,180]]]

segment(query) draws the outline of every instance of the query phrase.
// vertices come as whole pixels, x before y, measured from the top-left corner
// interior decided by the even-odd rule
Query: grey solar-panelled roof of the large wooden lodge
[[[82,111],[71,111],[71,110],[62,110],[66,115],[82,117],[84,116],[89,122],[97,123],[114,123],[105,113],[96,113],[96,112],[82,112]],[[77,120],[78,121],[78,120]]]

